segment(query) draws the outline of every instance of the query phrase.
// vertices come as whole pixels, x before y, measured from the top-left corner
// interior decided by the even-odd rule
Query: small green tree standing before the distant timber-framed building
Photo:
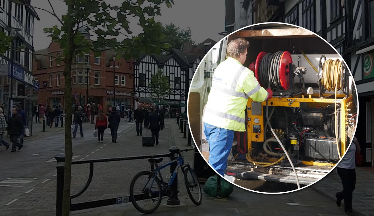
[[[157,71],[157,74],[151,77],[151,88],[152,93],[156,94],[157,101],[163,99],[164,95],[169,94],[170,92],[170,83],[169,79],[163,75],[161,69]]]

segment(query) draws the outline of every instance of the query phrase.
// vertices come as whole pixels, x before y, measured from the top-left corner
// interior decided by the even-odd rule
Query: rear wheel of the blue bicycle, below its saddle
[[[162,200],[160,180],[152,178],[152,175],[152,172],[142,171],[134,176],[130,184],[130,200],[144,214],[156,211]]]

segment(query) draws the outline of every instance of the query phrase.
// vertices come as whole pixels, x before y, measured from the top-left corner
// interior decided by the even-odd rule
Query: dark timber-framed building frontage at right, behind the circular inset
[[[355,136],[365,165],[374,166],[374,0],[226,0],[228,33],[260,22],[307,28],[343,56],[359,95]]]

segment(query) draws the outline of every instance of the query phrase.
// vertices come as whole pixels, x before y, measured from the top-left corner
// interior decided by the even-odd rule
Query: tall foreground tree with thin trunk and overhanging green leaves
[[[11,0],[19,4],[24,1]],[[70,212],[70,182],[71,158],[71,65],[76,55],[83,55],[90,51],[95,54],[105,50],[115,50],[117,56],[125,59],[138,58],[140,53],[160,53],[168,49],[169,44],[163,41],[163,28],[159,22],[154,21],[154,16],[161,15],[160,6],[165,3],[168,7],[174,4],[173,0],[122,0],[119,6],[112,6],[104,0],[64,0],[67,13],[59,17],[55,13],[51,1],[47,0],[50,8],[33,7],[50,13],[59,22],[60,26],[45,28],[52,41],[64,47],[63,55],[52,56],[57,61],[63,61],[65,68],[65,176],[63,211],[64,216]],[[27,4],[28,5],[28,4]],[[49,7],[48,6],[48,7]],[[143,33],[134,36],[129,24],[135,19],[143,28]],[[84,30],[91,40],[82,34]],[[123,38],[123,39],[121,39]],[[0,49],[1,51],[1,49]],[[21,51],[24,52],[24,51]],[[47,55],[48,56],[48,55]]]

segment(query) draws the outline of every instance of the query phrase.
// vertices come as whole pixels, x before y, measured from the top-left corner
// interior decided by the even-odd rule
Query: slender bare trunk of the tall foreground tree
[[[68,0],[68,13],[69,17],[73,13],[74,0]],[[71,182],[71,158],[73,156],[73,148],[71,145],[71,116],[73,101],[71,97],[71,62],[74,53],[74,40],[73,40],[73,20],[67,22],[67,45],[65,56],[65,176],[64,176],[64,195],[62,198],[62,215],[70,215],[70,182]]]

